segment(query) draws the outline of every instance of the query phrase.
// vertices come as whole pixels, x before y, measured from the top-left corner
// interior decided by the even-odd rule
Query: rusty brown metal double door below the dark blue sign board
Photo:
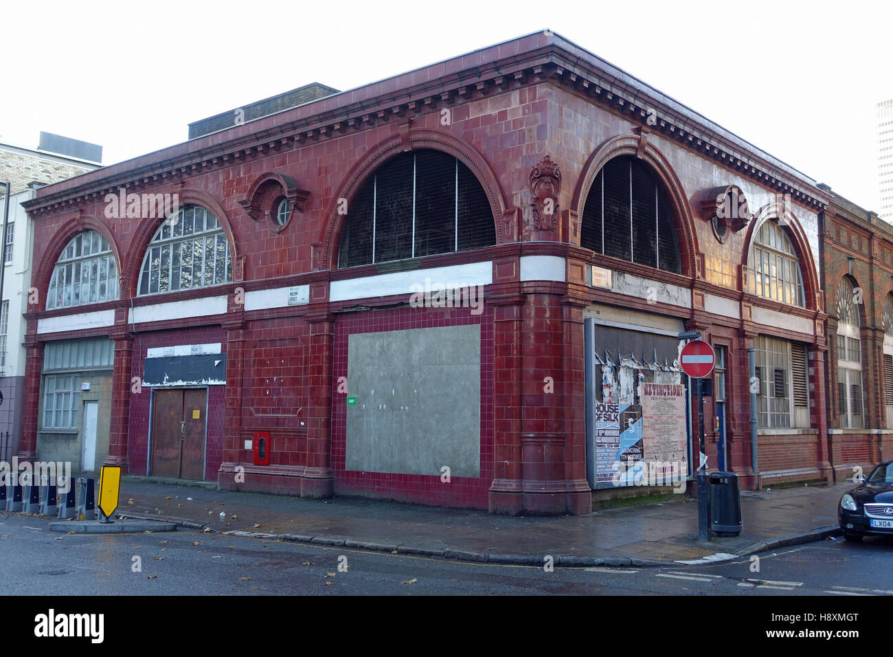
[[[152,475],[204,479],[207,390],[156,390]]]

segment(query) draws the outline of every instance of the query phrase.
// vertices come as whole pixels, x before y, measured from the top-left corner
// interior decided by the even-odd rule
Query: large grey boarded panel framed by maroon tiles
[[[479,325],[348,336],[347,396],[347,470],[480,476]]]

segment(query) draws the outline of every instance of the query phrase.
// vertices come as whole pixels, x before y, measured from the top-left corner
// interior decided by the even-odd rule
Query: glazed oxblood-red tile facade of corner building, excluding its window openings
[[[112,337],[109,462],[144,474],[151,395],[130,392],[130,383],[143,375],[146,350],[221,343],[226,384],[208,386],[204,478],[223,488],[364,494],[499,513],[587,513],[583,325],[594,308],[611,307],[639,317],[642,330],[661,323],[698,330],[726,349],[726,467],[744,485],[830,478],[828,343],[818,274],[819,214],[827,196],[718,126],[701,125],[700,117],[654,89],[643,86],[631,98],[623,76],[579,46],[538,33],[39,190],[29,211],[36,220],[41,299],[60,251],[82,230],[100,232],[112,245],[121,294],[91,306],[47,311],[41,301],[29,307],[29,372],[38,372],[46,341]],[[473,173],[492,214],[495,243],[338,268],[343,202],[349,208],[392,157],[424,149],[454,156]],[[590,190],[616,157],[645,163],[663,190],[680,273],[580,246]],[[146,248],[161,220],[106,218],[105,195],[121,188],[177,194],[181,205],[213,213],[229,244],[232,282],[138,295]],[[732,188],[747,198],[750,213],[721,239],[711,199],[717,189]],[[778,202],[780,194],[786,203]],[[275,220],[278,198],[294,208],[284,225]],[[755,227],[779,219],[802,270],[803,307],[747,290]],[[593,285],[593,266],[613,272],[612,289]],[[480,315],[410,307],[408,289],[387,288],[396,280],[388,276],[430,271],[486,271],[479,280]],[[292,289],[306,298],[276,300]],[[204,309],[135,321],[146,306]],[[101,323],[96,314],[109,310],[111,324],[77,332],[41,328],[77,314],[94,314]],[[647,316],[654,323],[642,319]],[[480,325],[479,476],[444,483],[435,473],[346,469],[339,378],[346,376],[348,336],[470,324]],[[805,345],[809,404],[807,426],[761,432],[755,476],[747,348],[760,335]],[[38,392],[34,385],[26,390],[30,411],[38,407]],[[714,401],[707,400],[705,417],[714,415]],[[712,421],[706,428],[715,467],[718,434]],[[22,455],[33,455],[37,429],[26,423]],[[271,435],[269,465],[255,465],[245,448],[256,432]]]

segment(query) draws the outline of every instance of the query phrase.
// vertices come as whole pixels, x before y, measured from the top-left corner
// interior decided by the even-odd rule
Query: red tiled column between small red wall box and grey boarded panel
[[[307,467],[301,481],[301,497],[331,497],[335,479],[331,469],[332,444],[332,346],[335,318],[308,316],[310,367],[307,376]]]

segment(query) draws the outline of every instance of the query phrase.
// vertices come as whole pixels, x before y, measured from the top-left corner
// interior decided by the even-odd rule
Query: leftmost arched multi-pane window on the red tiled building
[[[56,260],[46,309],[118,299],[118,267],[112,248],[96,231],[75,235]]]

